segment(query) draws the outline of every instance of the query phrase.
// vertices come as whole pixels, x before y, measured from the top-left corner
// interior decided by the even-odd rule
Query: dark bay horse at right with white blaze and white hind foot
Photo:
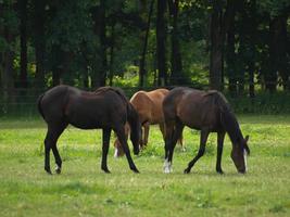
[[[174,148],[185,126],[201,131],[198,155],[189,162],[185,174],[189,174],[204,154],[210,132],[217,132],[216,171],[223,174],[220,161],[226,132],[232,143],[231,159],[237,170],[242,174],[247,171],[247,154],[250,154],[247,144],[249,136],[243,138],[238,120],[220,92],[175,88],[164,99],[163,112],[166,125],[164,173],[172,171]]]

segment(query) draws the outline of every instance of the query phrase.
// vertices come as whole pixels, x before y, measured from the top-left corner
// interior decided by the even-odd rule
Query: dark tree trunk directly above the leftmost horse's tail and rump
[[[34,28],[35,28],[35,59],[36,59],[36,84],[35,87],[45,87],[45,7],[46,0],[34,0]]]

